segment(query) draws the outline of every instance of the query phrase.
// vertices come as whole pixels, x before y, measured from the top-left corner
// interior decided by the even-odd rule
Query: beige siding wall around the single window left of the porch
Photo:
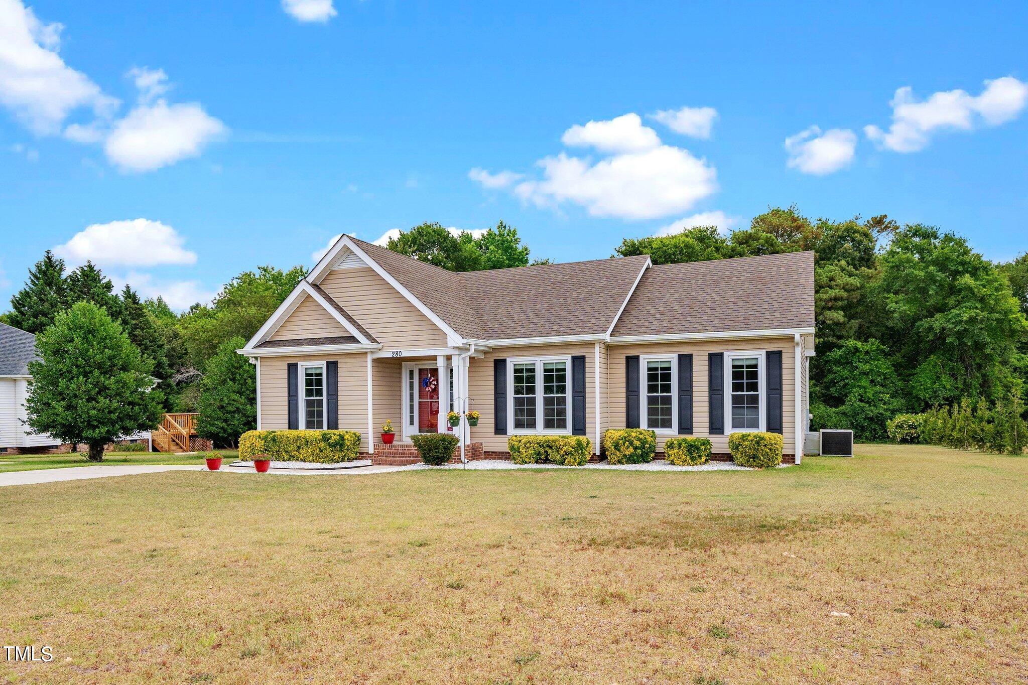
[[[361,452],[368,446],[367,354],[265,356],[260,360],[260,427],[289,427],[288,365],[292,363],[339,363],[339,428],[361,433]]]

